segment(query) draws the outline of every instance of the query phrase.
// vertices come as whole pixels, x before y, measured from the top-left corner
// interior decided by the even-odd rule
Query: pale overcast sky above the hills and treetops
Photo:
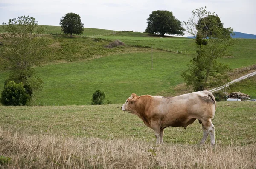
[[[39,25],[59,26],[61,17],[74,12],[86,28],[143,32],[152,11],[172,11],[187,21],[192,10],[204,6],[219,15],[225,28],[256,34],[256,0],[0,0],[0,23],[29,15]]]

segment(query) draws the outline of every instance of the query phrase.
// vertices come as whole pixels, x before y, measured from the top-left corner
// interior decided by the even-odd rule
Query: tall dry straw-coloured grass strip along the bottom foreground
[[[26,135],[0,128],[6,168],[255,168],[256,143],[247,146],[163,144],[144,140],[102,140]]]

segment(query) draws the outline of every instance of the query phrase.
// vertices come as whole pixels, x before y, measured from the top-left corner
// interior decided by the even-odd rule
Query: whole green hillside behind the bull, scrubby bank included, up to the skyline
[[[90,29],[84,34],[97,31]],[[183,83],[180,72],[196,50],[189,38],[137,32],[99,34],[95,38],[69,38],[57,33],[43,37],[48,39],[49,53],[42,67],[35,68],[37,76],[45,82],[43,91],[37,95],[37,105],[90,104],[96,89],[105,92],[112,104],[124,102],[131,93],[175,96],[174,88]],[[116,39],[126,45],[106,47]],[[233,69],[254,65],[255,46],[255,39],[236,39],[230,48],[232,54],[220,61]],[[0,91],[7,76],[8,71],[0,71]]]

